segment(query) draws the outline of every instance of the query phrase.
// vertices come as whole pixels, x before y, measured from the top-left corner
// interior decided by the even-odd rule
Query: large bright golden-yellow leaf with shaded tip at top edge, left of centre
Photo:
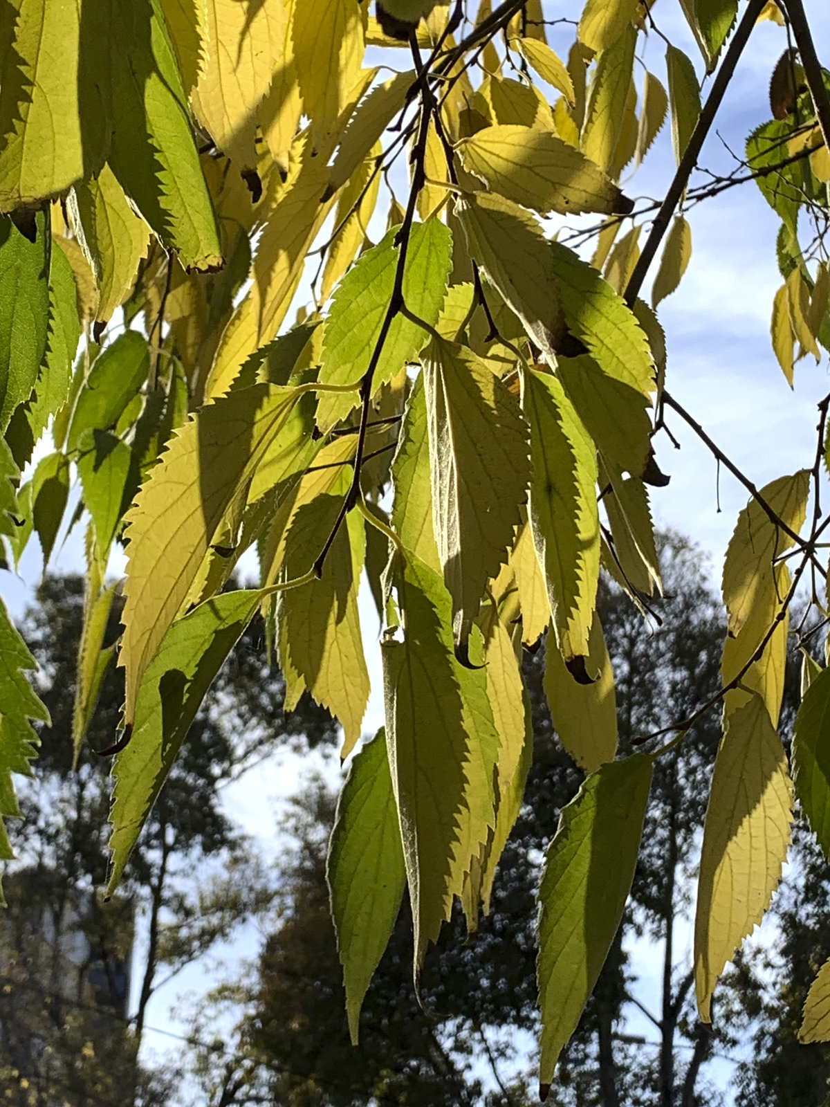
[[[222,153],[241,170],[257,167],[256,112],[286,40],[283,0],[207,0],[207,39],[191,104]]]

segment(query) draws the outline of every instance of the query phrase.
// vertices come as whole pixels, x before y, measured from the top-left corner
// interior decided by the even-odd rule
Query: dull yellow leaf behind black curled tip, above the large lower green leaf
[[[616,754],[614,674],[596,612],[589,646],[589,670],[600,675],[593,684],[579,684],[566,669],[556,638],[548,632],[544,695],[560,742],[580,768],[593,773]]]

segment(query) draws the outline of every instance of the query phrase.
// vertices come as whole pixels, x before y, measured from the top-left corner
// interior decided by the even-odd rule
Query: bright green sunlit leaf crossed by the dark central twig
[[[366,250],[338,284],[323,328],[320,381],[360,384],[381,334],[398,263],[398,228]],[[415,224],[409,236],[404,271],[404,301],[429,327],[438,320],[449,278],[452,236],[438,219]],[[423,327],[396,315],[386,334],[372,381],[372,392],[391,380],[428,340]],[[318,423],[328,430],[360,402],[353,395],[320,396]]]

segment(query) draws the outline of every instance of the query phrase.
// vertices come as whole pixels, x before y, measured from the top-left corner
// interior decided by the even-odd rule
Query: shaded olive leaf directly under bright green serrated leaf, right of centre
[[[646,396],[604,373],[589,354],[559,358],[557,376],[602,455],[639,476],[651,449]]]

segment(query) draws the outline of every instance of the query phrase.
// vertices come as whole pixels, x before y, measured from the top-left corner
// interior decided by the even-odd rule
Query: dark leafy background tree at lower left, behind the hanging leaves
[[[21,624],[53,721],[41,733],[42,770],[23,790],[25,821],[12,825],[19,860],[10,879],[27,894],[3,918],[0,935],[0,1064],[20,1074],[11,1087],[29,1082],[21,1107],[51,1103],[63,1085],[79,1107],[126,1104],[131,1088],[141,1104],[170,1094],[158,1074],[131,1076],[151,999],[245,920],[262,915],[273,896],[255,844],[222,809],[221,789],[278,746],[308,752],[335,739],[330,716],[308,697],[283,712],[284,683],[266,659],[261,624],[252,623],[205,697],[122,891],[105,903],[111,758],[95,751],[117,730],[123,673],[107,669],[72,772],[83,597],[83,578],[46,577]],[[116,604],[105,644],[118,633],[118,614]],[[98,974],[106,979],[115,965],[128,972],[138,925],[146,954],[132,964],[137,1002],[127,1012],[123,982],[117,996],[114,985],[96,994],[89,965],[73,972],[66,949],[85,939]]]

